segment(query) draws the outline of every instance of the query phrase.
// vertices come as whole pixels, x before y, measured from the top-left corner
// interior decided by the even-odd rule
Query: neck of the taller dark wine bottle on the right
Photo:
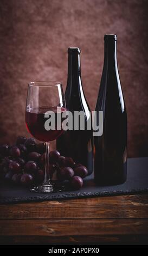
[[[105,40],[104,67],[107,67],[107,70],[117,68],[117,41],[115,40]]]

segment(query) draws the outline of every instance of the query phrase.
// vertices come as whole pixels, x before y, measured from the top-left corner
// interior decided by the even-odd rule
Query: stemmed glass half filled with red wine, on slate
[[[60,82],[36,81],[29,83],[25,123],[31,135],[46,144],[44,181],[43,184],[31,188],[31,191],[52,193],[62,190],[62,186],[50,179],[49,142],[54,141],[62,134],[62,125],[59,129],[57,120],[59,120],[58,115],[61,117],[65,111],[65,96]],[[55,116],[50,119],[49,123],[53,122],[50,127],[53,125],[55,128],[49,130],[45,123],[49,120],[48,113],[50,112]],[[62,120],[60,124],[62,124]]]

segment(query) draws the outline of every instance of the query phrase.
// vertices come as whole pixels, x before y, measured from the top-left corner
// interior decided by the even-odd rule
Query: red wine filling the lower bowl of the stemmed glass
[[[44,123],[46,122],[47,118],[44,117],[44,114],[47,111],[52,111],[55,114],[55,130],[47,131],[44,127]],[[57,115],[61,115],[65,112],[66,109],[63,107],[32,107],[27,109],[25,112],[25,122],[27,125],[28,131],[34,136],[38,141],[54,141],[54,139],[58,138],[63,130],[57,130]],[[62,118],[62,121],[65,118]]]

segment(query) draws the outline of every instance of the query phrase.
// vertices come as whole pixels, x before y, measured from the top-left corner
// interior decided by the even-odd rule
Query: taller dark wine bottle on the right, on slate
[[[117,66],[117,36],[105,35],[104,68],[96,102],[96,125],[103,111],[103,133],[94,137],[94,180],[121,184],[127,169],[127,115]]]

